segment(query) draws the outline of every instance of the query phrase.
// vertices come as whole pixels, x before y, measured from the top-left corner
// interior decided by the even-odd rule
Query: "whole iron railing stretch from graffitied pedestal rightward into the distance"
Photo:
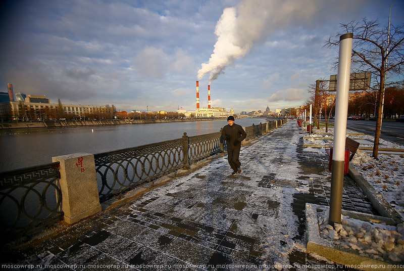
[[[279,120],[278,126],[281,123]],[[269,127],[275,128],[275,121]],[[246,140],[251,140],[264,134],[267,124],[245,130]],[[94,154],[100,202],[222,152],[227,146],[220,136],[221,132],[194,137],[184,133],[181,139]]]

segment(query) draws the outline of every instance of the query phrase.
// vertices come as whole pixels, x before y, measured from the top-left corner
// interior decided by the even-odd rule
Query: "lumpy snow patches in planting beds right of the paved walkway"
[[[333,129],[329,129],[328,132],[333,133]],[[349,137],[355,137],[356,140],[363,139],[364,144],[361,143],[361,146],[373,147],[373,136],[357,134],[350,130],[347,130],[347,136],[348,133],[351,134]],[[355,136],[352,136],[352,133],[355,133]],[[321,137],[324,137],[324,134],[312,134],[308,142],[324,145],[324,141],[318,139]],[[379,148],[404,149],[400,144],[383,139],[380,139]],[[404,155],[379,153],[378,159],[374,159],[371,154],[357,150],[350,163],[404,218]],[[333,228],[328,224],[328,217],[329,209],[318,213],[322,238],[338,243],[344,248],[356,250],[366,257],[404,262],[404,223],[395,227],[341,215],[341,224],[335,224]]]

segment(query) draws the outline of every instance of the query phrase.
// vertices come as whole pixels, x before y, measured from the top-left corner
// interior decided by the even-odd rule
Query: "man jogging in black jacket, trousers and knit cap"
[[[228,125],[222,129],[222,139],[227,141],[227,155],[231,168],[233,169],[233,175],[241,173],[241,163],[238,160],[240,155],[241,141],[243,141],[247,134],[243,127],[234,123],[234,117],[229,116],[227,118]]]

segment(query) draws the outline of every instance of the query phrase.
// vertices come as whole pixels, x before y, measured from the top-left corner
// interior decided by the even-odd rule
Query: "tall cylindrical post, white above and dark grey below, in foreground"
[[[334,144],[331,171],[330,218],[328,223],[341,223],[342,186],[344,178],[346,119],[348,115],[350,62],[354,34],[339,38],[337,94],[335,105]]]

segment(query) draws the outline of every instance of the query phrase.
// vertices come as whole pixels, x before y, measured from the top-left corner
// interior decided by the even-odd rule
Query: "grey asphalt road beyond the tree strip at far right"
[[[322,121],[324,122],[324,119]],[[330,119],[329,124],[334,125],[334,119]],[[376,121],[347,120],[346,128],[374,136],[376,130]],[[404,145],[404,122],[384,120],[382,122],[380,138]]]

